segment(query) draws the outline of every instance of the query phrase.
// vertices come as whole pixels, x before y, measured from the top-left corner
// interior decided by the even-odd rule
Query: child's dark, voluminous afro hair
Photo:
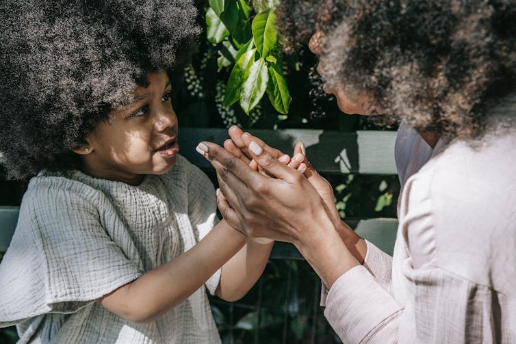
[[[191,0],[2,0],[0,152],[12,178],[77,168],[79,148],[151,71],[188,61]]]

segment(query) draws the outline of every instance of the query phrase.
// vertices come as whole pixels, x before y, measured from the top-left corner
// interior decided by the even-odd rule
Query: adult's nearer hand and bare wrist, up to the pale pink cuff
[[[359,262],[337,233],[324,200],[300,171],[281,163],[256,142],[246,142],[246,136],[242,140],[250,157],[274,178],[253,170],[216,144],[198,145],[224,182],[217,198],[224,219],[248,237],[294,243],[331,287]]]

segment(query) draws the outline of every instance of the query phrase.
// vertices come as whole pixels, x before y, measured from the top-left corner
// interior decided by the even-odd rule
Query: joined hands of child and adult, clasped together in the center
[[[229,225],[250,238],[296,246],[309,243],[321,227],[341,226],[333,189],[306,159],[302,142],[291,159],[236,126],[229,135],[224,147],[211,142],[197,147],[216,169],[217,204]]]

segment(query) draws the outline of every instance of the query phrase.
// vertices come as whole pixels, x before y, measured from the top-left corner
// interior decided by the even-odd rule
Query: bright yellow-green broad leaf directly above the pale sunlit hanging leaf
[[[276,14],[274,12],[262,12],[255,16],[251,25],[256,47],[263,58],[269,55],[278,38],[275,21]]]

